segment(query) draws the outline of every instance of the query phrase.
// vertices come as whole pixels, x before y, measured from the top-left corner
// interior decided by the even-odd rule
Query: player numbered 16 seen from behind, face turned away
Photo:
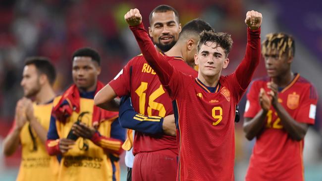
[[[174,17],[173,12],[172,15]],[[177,25],[175,19],[173,23]],[[167,53],[176,56],[174,59],[171,57],[169,63],[180,71],[196,77],[197,72],[189,67],[183,59],[188,62],[193,61],[199,33],[205,29],[212,30],[212,27],[202,20],[193,20],[187,23],[182,28],[177,43],[167,51]],[[153,48],[155,49],[155,47]],[[160,55],[167,57],[163,53]],[[154,116],[151,121],[159,121],[159,116],[173,114],[170,98],[163,90],[156,73],[142,55],[133,58],[124,67],[122,74],[112,80],[107,87],[113,90],[113,94],[108,94],[110,92],[104,90],[99,92],[96,98],[104,96],[101,100],[97,99],[96,103],[99,105],[111,100],[116,95],[130,94],[134,109],[140,113],[136,115],[138,120],[143,121],[146,118],[145,114]],[[133,152],[135,154],[132,170],[134,181],[174,181],[176,179],[178,155],[176,137],[164,134],[147,135],[136,131]]]

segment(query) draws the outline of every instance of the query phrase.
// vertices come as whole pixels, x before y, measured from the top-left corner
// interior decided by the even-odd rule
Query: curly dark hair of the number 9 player
[[[232,39],[228,33],[223,32],[213,32],[213,31],[203,31],[200,34],[200,41],[197,46],[197,52],[199,52],[201,45],[206,45],[208,42],[216,43],[216,47],[221,47],[226,57],[228,56],[231,47],[232,47]]]

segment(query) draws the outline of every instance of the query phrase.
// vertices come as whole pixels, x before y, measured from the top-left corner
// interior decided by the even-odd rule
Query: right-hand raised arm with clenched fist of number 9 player
[[[261,24],[262,14],[257,11],[246,13],[245,23],[247,28],[247,46],[245,57],[237,67],[235,73],[237,81],[242,89],[246,89],[252,80],[252,76],[261,57]]]

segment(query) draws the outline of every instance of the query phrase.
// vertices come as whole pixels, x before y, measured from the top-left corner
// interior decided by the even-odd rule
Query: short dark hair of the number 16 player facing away
[[[191,35],[191,34],[196,34],[197,36],[199,36],[199,34],[202,31],[213,31],[214,29],[210,26],[209,23],[207,23],[204,20],[201,19],[194,19],[189,21],[187,24],[185,24],[182,27],[182,30],[179,34],[179,39],[182,37],[186,37],[187,35]]]

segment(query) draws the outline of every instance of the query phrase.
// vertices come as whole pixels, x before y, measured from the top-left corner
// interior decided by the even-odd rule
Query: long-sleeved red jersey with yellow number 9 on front
[[[142,23],[130,28],[173,101],[177,136],[180,136],[177,179],[233,181],[235,108],[260,60],[260,29],[248,29],[244,59],[234,73],[221,76],[215,92],[211,92],[195,77],[173,68],[156,52]]]

